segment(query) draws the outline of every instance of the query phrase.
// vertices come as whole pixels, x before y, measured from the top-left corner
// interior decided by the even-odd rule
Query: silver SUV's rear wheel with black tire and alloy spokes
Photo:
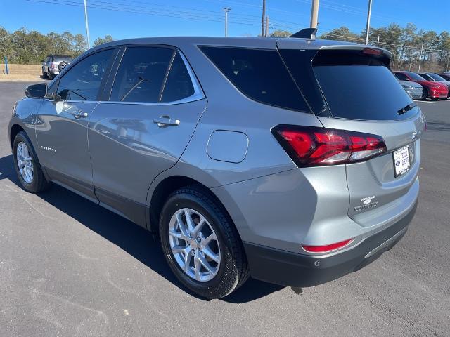
[[[176,220],[177,213],[181,212],[181,218],[178,219],[181,219],[183,223],[187,223],[186,213],[184,213],[186,210],[193,212],[191,213],[193,223],[195,223],[195,217],[198,216],[200,218],[197,218],[197,221],[204,223],[203,226],[200,226],[202,227],[200,236],[206,237],[208,234],[205,234],[205,230],[211,230],[212,234],[215,234],[217,238],[214,241],[210,241],[210,246],[203,246],[203,251],[201,245],[206,242],[206,239],[201,239],[199,246],[196,249],[195,247],[191,249],[193,244],[197,244],[195,237],[191,239],[191,246],[189,246],[188,241],[181,240],[178,237],[174,238],[174,234],[169,234],[169,230],[175,232],[175,227],[171,226],[179,226],[179,221]],[[202,216],[203,218],[201,218]],[[200,219],[204,219],[205,221]],[[197,226],[195,225],[195,229]],[[238,289],[248,279],[249,269],[247,258],[236,227],[231,223],[231,219],[227,216],[223,206],[218,204],[217,201],[214,201],[214,197],[208,190],[193,185],[173,192],[162,208],[159,230],[162,251],[170,269],[182,284],[199,296],[208,299],[222,298]],[[181,227],[179,227],[179,230],[181,233]],[[188,231],[189,236],[193,232],[195,230]],[[179,233],[176,232],[176,235],[179,235]],[[195,236],[198,242],[200,242],[200,237]],[[183,253],[174,253],[172,251],[171,244],[173,244],[173,240],[178,241],[176,247],[186,246]],[[211,244],[214,245],[212,248]],[[189,253],[185,253],[186,249],[191,249],[192,254],[191,258],[188,258],[187,269],[191,273],[195,272],[195,278],[193,275],[188,275],[188,272],[185,272],[178,262],[178,260],[186,260],[186,255],[189,256]],[[219,258],[219,263],[210,259],[210,255],[205,254],[208,249],[214,250],[215,258]],[[203,254],[203,259],[207,258],[210,260],[210,270],[215,270],[215,275],[211,279],[208,279],[208,277],[211,277],[213,273],[208,272],[207,268],[203,267],[204,265],[201,262],[198,262],[200,265],[199,274],[202,275],[200,277],[205,277],[205,279],[197,279],[196,263],[201,260],[201,254]],[[214,264],[216,264],[215,268],[212,266]],[[201,270],[203,270],[204,275]]]

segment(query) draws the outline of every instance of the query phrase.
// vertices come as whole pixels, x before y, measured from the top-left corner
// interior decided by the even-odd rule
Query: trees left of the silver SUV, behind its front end
[[[99,37],[94,41],[94,46],[109,41],[113,41],[110,35]],[[26,28],[8,32],[0,26],[0,62],[6,56],[10,63],[39,64],[46,55],[70,55],[75,58],[87,49],[86,39],[82,34],[41,34]]]

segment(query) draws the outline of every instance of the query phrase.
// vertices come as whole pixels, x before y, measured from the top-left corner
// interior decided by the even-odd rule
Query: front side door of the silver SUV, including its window
[[[54,83],[35,124],[39,161],[50,178],[91,199],[95,194],[87,125],[113,51],[87,56]]]

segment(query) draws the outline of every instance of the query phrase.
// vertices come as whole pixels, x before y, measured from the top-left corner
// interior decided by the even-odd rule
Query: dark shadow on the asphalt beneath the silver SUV
[[[0,180],[4,179],[11,180],[12,183],[20,187],[13,166],[12,154],[0,158]],[[52,184],[49,190],[37,195],[90,230],[119,246],[183,291],[190,293],[195,298],[200,298],[176,279],[165,261],[159,240],[145,228],[131,223],[131,221],[112,211],[108,211],[102,206],[56,184]],[[229,303],[245,303],[262,298],[280,289],[283,289],[283,286],[249,279],[240,289],[221,300]]]

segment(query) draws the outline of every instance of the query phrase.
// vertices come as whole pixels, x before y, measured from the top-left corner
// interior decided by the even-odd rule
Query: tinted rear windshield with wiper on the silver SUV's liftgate
[[[286,54],[288,67],[295,53]],[[284,56],[283,56],[284,57]],[[333,117],[364,120],[406,119],[416,112],[398,112],[412,103],[385,60],[361,51],[319,51],[314,75]],[[304,76],[295,74],[293,76]]]

